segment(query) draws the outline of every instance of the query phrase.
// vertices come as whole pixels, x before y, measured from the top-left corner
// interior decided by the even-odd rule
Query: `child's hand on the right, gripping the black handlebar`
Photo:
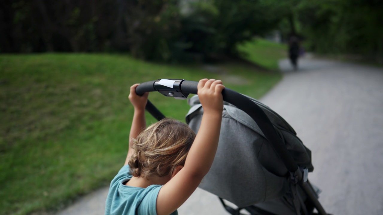
[[[222,90],[225,86],[222,85],[221,80],[207,78],[198,82],[198,98],[206,112],[218,112],[222,114],[223,111],[223,97]]]

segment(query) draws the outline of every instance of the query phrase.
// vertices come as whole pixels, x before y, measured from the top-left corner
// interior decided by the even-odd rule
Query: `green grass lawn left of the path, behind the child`
[[[0,55],[0,214],[60,210],[108,185],[127,153],[134,83],[220,78],[259,98],[282,78],[242,64],[215,67],[218,72],[111,54]],[[182,121],[189,109],[159,93],[149,99]]]

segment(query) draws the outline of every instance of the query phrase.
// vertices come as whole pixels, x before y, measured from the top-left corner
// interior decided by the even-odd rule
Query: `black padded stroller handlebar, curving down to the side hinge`
[[[138,95],[142,95],[146,92],[152,92],[152,91],[159,91],[155,88],[155,83],[157,81],[147,81],[144,83],[141,83],[136,88],[136,93]],[[184,94],[197,94],[197,85],[198,82],[196,81],[187,81],[187,80],[179,80],[179,90]],[[174,89],[168,88],[167,90],[173,91]],[[175,90],[174,90],[175,91]],[[163,94],[163,93],[162,93]],[[165,94],[166,95],[166,94]],[[296,165],[293,157],[290,155],[286,147],[284,146],[284,143],[282,139],[279,137],[277,132],[275,131],[272,123],[266,116],[265,112],[262,111],[262,109],[252,102],[250,99],[248,99],[246,96],[237,93],[234,90],[230,90],[228,88],[225,88],[222,91],[223,100],[236,106],[237,108],[241,109],[242,111],[249,114],[252,119],[258,124],[259,128],[264,133],[265,137],[267,138],[268,142],[273,146],[274,150],[277,152],[277,154],[280,156],[283,163],[285,163],[286,168],[290,172],[295,172],[298,169],[298,165]],[[158,111],[155,106],[148,101],[148,104],[146,106],[146,110],[149,111],[155,118],[158,120],[163,119],[164,116],[160,111]]]

